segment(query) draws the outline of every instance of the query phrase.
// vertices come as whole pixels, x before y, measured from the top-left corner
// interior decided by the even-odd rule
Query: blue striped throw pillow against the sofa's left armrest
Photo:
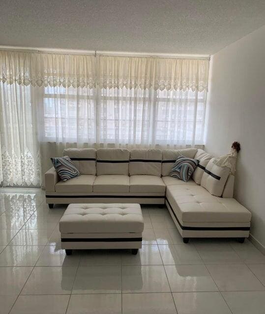
[[[67,181],[79,176],[79,171],[72,163],[70,157],[53,157],[51,160],[62,181]]]

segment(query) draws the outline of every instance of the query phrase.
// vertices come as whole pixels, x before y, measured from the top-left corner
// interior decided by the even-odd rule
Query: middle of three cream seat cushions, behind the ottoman
[[[129,192],[130,180],[125,175],[97,176],[93,184],[94,192]]]

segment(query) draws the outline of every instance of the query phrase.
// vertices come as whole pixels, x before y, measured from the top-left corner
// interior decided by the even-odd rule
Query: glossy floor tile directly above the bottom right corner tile
[[[247,265],[207,265],[206,267],[220,291],[265,290]]]

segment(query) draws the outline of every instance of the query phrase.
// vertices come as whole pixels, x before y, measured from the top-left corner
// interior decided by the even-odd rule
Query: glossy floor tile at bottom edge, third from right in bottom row
[[[177,314],[171,293],[122,294],[123,314]]]

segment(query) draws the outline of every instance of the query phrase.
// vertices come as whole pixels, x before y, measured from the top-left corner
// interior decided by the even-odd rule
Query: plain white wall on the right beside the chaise
[[[206,151],[221,156],[241,144],[234,195],[265,247],[265,26],[211,57],[209,84]]]

